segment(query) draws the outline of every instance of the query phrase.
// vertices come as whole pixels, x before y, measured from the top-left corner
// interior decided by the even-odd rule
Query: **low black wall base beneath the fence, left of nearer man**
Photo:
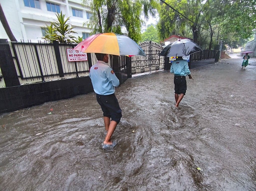
[[[91,79],[79,77],[0,88],[0,113],[93,92]]]

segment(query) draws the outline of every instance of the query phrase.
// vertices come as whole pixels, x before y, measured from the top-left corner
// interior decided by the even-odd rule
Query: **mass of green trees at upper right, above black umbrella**
[[[162,4],[157,25],[161,40],[172,34],[184,36],[181,33],[187,27],[193,34],[193,40],[203,48],[208,46],[212,49],[218,40],[222,40],[231,48],[236,48],[255,33],[255,0],[166,0],[165,2],[193,22]]]

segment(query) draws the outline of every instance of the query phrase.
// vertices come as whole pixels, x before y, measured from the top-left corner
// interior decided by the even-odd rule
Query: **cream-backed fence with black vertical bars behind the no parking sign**
[[[23,41],[11,44],[17,74],[24,83],[87,76],[89,68],[97,63],[94,53],[87,54],[87,61],[70,62],[67,49],[73,49],[76,44],[48,43],[46,41],[38,43]],[[112,67],[112,55],[109,58],[108,65]],[[125,58],[120,56],[119,69],[125,68]]]

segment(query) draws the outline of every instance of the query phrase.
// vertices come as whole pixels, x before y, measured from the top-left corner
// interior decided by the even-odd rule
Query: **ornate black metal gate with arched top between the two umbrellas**
[[[140,43],[139,46],[147,56],[132,57],[132,74],[164,69],[165,57],[159,56],[159,53],[163,50],[160,44],[146,41]]]

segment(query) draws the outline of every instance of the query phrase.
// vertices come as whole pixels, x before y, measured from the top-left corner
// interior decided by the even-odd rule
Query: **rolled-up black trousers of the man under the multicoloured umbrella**
[[[101,106],[104,117],[109,117],[111,120],[120,122],[122,117],[122,110],[118,104],[118,100],[115,97],[115,94],[111,95],[99,95],[96,94],[98,103]]]

